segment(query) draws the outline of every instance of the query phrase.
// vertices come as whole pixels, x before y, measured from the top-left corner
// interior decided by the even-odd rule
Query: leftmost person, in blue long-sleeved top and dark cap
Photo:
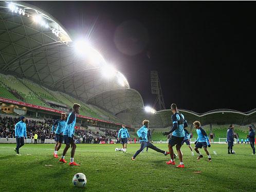
[[[16,148],[14,149],[17,156],[20,155],[20,148],[24,145],[24,139],[27,138],[27,125],[24,116],[20,117],[19,122],[15,125],[15,138],[16,138]]]

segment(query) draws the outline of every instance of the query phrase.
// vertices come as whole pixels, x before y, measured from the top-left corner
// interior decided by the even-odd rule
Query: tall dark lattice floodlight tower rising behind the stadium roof
[[[157,95],[153,107],[155,108],[158,103],[159,110],[164,110],[166,109],[166,106],[164,105],[164,101],[162,97],[162,89],[161,89],[160,80],[159,80],[157,71],[151,71],[150,78],[151,78],[151,93]]]

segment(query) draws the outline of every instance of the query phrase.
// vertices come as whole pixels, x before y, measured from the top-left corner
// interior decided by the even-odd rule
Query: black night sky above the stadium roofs
[[[50,13],[72,40],[86,37],[153,105],[150,71],[164,103],[206,112],[255,108],[253,2],[26,2]]]

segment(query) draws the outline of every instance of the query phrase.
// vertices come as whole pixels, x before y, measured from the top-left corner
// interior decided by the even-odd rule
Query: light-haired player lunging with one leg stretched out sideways
[[[135,158],[137,157],[137,155],[139,155],[139,153],[145,147],[149,147],[149,148],[151,148],[151,149],[153,149],[153,150],[155,150],[157,152],[163,153],[163,155],[167,156],[169,154],[169,152],[157,148],[156,146],[154,146],[152,143],[150,143],[148,141],[149,121],[148,120],[144,120],[142,124],[143,124],[143,126],[140,127],[140,129],[137,131],[137,135],[138,135],[139,140],[140,140],[140,149],[136,151],[136,153],[132,157],[132,160],[135,161]]]

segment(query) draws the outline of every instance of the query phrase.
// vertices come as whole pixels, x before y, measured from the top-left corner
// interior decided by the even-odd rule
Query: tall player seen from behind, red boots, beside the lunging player
[[[183,114],[178,112],[176,104],[173,103],[171,105],[171,110],[173,112],[172,129],[169,132],[163,132],[163,135],[169,135],[170,133],[172,133],[172,136],[171,136],[171,138],[169,140],[169,144],[168,144],[169,152],[171,155],[171,160],[166,163],[168,165],[169,164],[175,165],[173,146],[176,145],[176,150],[178,152],[179,162],[180,162],[177,167],[184,168],[183,155],[182,155],[180,148],[182,146],[182,141],[184,140],[184,137],[185,137],[184,128],[186,128],[188,126],[188,124],[187,124],[187,121],[185,120]]]

